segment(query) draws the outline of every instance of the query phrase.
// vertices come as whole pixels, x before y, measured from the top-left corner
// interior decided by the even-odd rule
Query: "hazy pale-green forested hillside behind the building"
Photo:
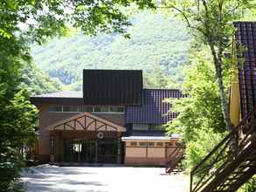
[[[158,80],[156,73],[163,72],[163,78],[170,76],[179,83],[190,40],[182,22],[149,12],[136,13],[131,19],[134,26],[128,29],[130,39],[115,34],[77,34],[33,46],[34,61],[74,90],[81,88],[82,69],[142,69],[146,86],[159,86],[154,82]]]

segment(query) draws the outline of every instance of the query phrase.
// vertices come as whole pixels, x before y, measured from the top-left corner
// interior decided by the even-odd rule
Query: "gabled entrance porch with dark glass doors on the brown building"
[[[51,161],[121,163],[124,127],[81,113],[47,128],[51,130]]]

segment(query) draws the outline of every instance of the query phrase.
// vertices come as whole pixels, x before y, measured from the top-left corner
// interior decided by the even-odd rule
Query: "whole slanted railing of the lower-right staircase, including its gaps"
[[[239,122],[232,132],[214,147],[202,161],[190,172],[190,192],[198,192],[204,189],[249,143],[255,132],[256,108]],[[243,134],[241,134],[243,133]],[[241,138],[238,135],[243,135]],[[233,153],[231,149],[232,139],[238,140],[238,151]]]

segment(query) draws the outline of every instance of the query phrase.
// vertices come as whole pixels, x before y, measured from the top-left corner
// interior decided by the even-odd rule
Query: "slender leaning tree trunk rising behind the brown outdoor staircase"
[[[222,59],[220,58],[221,56],[217,55],[217,51],[215,50],[214,45],[210,44],[210,48],[211,48],[211,54],[213,57],[213,63],[215,66],[216,78],[218,80],[218,89],[220,93],[220,101],[222,106],[223,117],[225,120],[225,125],[228,132],[232,133],[232,130],[234,127],[232,126],[232,122],[230,119],[229,106],[228,106],[227,99],[225,97],[225,87],[223,84],[223,74],[222,74],[223,62],[222,62]],[[222,54],[222,53],[220,52],[219,54]],[[232,153],[236,155],[238,152],[238,141],[237,141],[236,134],[232,134],[231,149],[232,149]]]

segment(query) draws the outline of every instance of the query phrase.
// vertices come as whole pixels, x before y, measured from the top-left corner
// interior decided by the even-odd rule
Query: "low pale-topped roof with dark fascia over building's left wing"
[[[31,102],[34,104],[50,103],[50,104],[80,104],[83,105],[82,92],[59,92],[34,95],[31,97]]]

